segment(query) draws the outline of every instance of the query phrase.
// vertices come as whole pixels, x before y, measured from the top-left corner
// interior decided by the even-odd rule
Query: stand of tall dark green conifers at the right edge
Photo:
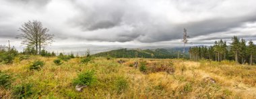
[[[215,41],[214,45],[207,46],[195,46],[189,48],[189,54],[191,60],[234,60],[240,64],[253,64],[255,63],[256,45],[252,40],[248,42],[245,39],[240,39],[237,36],[232,37],[232,42],[228,46],[226,41],[220,39]]]

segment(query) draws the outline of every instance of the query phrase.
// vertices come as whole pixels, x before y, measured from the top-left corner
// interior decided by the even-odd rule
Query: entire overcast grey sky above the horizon
[[[255,0],[0,0],[0,45],[18,49],[18,28],[41,21],[55,42],[46,49],[98,52],[117,47],[209,45],[233,35],[256,41]]]

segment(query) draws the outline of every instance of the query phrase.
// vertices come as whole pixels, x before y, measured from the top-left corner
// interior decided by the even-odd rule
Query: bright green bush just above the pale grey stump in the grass
[[[96,76],[94,75],[93,70],[82,72],[73,80],[73,84],[83,86],[91,86],[94,82],[96,82]]]

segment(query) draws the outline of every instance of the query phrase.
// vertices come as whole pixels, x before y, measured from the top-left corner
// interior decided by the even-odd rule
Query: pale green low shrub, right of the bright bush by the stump
[[[129,88],[129,82],[123,77],[119,77],[115,83],[118,93],[125,92]]]

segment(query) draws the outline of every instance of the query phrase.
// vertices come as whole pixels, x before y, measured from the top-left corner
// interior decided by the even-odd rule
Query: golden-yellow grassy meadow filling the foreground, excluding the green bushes
[[[56,66],[56,58],[35,56],[20,63],[0,66],[0,70],[13,76],[12,86],[22,83],[33,84],[31,98],[255,98],[256,67],[240,66],[233,62],[189,62],[183,60],[95,58],[92,63],[79,64],[75,58]],[[34,60],[43,60],[46,64],[40,71],[28,70],[28,64]],[[133,62],[146,60],[148,66],[170,65],[174,63],[174,74],[157,72],[143,74],[139,69],[129,67]],[[98,82],[76,92],[72,80],[84,70],[95,70]],[[115,81],[126,78],[129,88],[117,92]],[[216,84],[205,82],[210,77]],[[11,88],[0,88],[0,96],[11,98]]]

